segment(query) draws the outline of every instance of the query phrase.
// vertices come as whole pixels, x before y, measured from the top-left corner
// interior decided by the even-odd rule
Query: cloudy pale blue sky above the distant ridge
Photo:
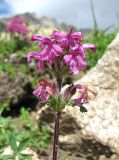
[[[118,0],[94,0],[95,16],[99,28],[119,24]],[[0,0],[0,17],[9,17],[26,12],[37,16],[55,18],[78,28],[93,28],[90,0]]]

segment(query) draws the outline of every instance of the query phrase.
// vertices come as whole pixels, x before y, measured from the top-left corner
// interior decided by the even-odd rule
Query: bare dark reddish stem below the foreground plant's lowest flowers
[[[60,112],[55,113],[54,143],[52,160],[57,160]]]

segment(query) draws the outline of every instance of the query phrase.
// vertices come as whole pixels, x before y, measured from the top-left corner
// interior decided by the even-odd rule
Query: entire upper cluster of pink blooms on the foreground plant
[[[38,41],[40,51],[30,52],[27,56],[28,61],[32,58],[37,60],[39,70],[44,72],[46,62],[52,65],[60,58],[61,66],[67,65],[71,73],[76,75],[87,66],[86,51],[92,49],[94,53],[96,52],[94,44],[81,44],[82,40],[82,34],[80,32],[72,33],[72,28],[68,29],[68,33],[54,31],[51,38],[38,34],[33,35],[31,41]]]

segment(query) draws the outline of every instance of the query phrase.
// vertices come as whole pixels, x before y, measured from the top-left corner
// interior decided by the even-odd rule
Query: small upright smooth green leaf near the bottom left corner
[[[17,144],[16,144],[17,140],[16,140],[16,137],[14,135],[10,135],[9,136],[9,145],[11,147],[11,149],[17,153],[18,152],[18,147],[17,147]]]

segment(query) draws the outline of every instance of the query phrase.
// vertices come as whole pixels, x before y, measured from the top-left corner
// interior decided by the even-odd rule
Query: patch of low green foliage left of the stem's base
[[[21,108],[20,117],[16,120],[11,117],[4,118],[0,116],[0,154],[8,146],[11,147],[14,153],[11,157],[0,157],[0,160],[2,158],[11,158],[13,160],[15,156],[29,160],[30,157],[22,154],[25,148],[46,148],[48,142],[48,129],[37,121],[34,122],[30,113],[24,107]]]

